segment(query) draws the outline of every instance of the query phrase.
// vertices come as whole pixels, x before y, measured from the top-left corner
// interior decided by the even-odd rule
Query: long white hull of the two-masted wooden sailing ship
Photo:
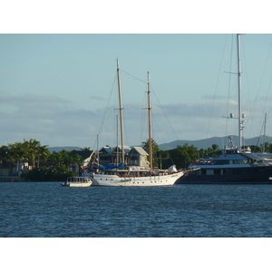
[[[93,174],[93,186],[171,186],[184,172],[177,172],[170,175],[149,176],[149,177],[119,177],[117,175]]]

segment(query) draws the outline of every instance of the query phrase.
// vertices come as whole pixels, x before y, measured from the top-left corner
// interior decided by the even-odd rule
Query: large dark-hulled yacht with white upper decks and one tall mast
[[[240,71],[240,34],[237,34],[238,48],[238,147],[232,136],[228,136],[228,145],[219,158],[200,159],[189,165],[189,170],[178,183],[272,183],[272,164],[266,156],[251,153],[250,148],[242,149],[242,131],[244,114],[241,112],[241,71]],[[232,116],[230,116],[232,117]]]

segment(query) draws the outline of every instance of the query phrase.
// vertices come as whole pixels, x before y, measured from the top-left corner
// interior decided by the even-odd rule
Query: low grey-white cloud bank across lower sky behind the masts
[[[80,146],[96,149],[116,144],[116,115],[118,111],[100,108],[77,109],[73,102],[57,96],[1,94],[13,112],[1,112],[0,145],[36,139],[49,146]],[[161,111],[162,108],[162,111]],[[237,134],[237,121],[221,118],[219,102],[176,102],[152,106],[153,138],[157,143],[175,140],[199,140],[226,134]],[[106,112],[106,114],[105,114]],[[147,111],[139,104],[124,105],[124,139],[126,145],[141,144],[148,138]],[[256,135],[254,135],[256,136]]]

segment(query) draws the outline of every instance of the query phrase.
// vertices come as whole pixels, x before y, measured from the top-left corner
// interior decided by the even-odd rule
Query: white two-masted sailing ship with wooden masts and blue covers
[[[149,112],[149,155],[150,167],[124,165],[123,145],[123,122],[121,106],[121,83],[120,69],[117,60],[117,80],[119,93],[119,116],[121,129],[121,163],[118,166],[105,165],[97,166],[96,172],[92,173],[92,186],[170,186],[184,175],[184,171],[178,171],[175,166],[169,170],[154,170],[152,165],[152,144],[151,144],[151,90],[150,77],[148,73],[148,112]]]

